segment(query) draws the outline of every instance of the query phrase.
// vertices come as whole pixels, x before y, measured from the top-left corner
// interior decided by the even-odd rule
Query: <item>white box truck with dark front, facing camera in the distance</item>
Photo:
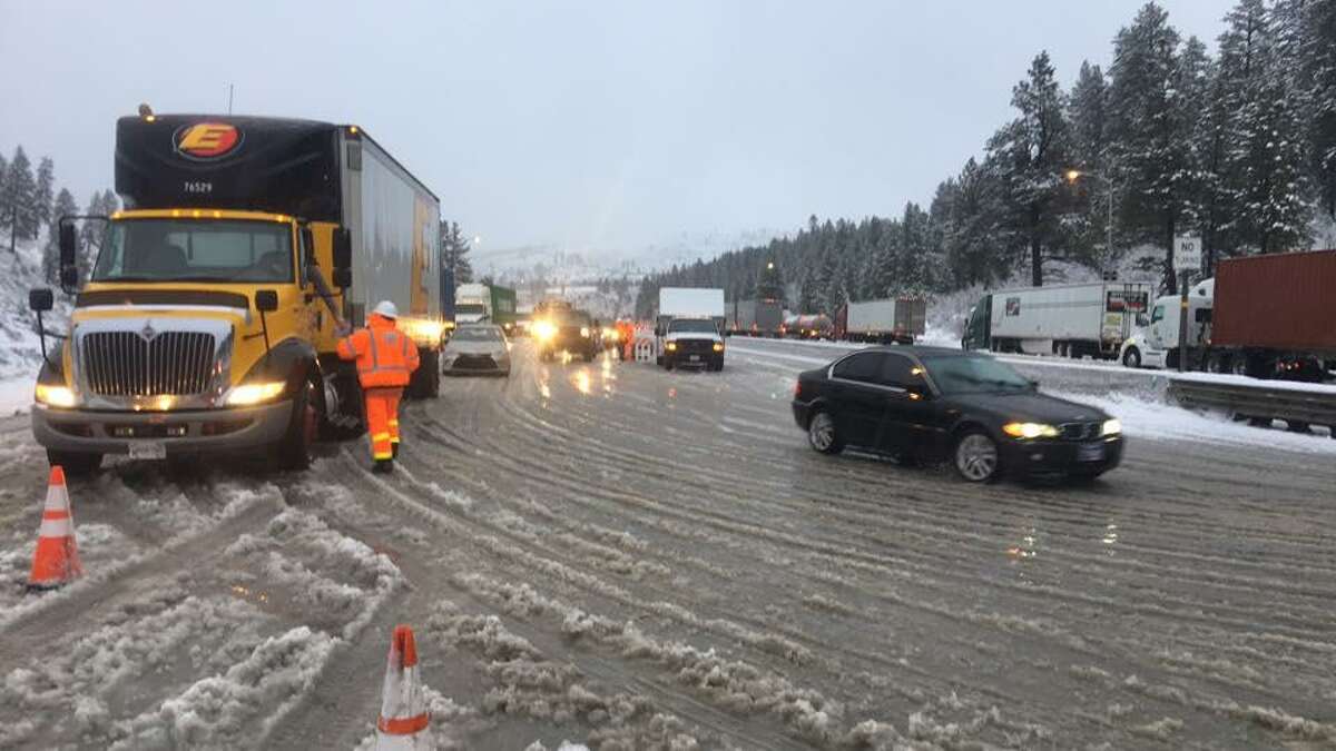
[[[663,287],[655,319],[663,367],[724,369],[724,290]]]

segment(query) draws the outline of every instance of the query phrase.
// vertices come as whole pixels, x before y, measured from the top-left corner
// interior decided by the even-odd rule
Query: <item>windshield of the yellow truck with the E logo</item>
[[[258,220],[112,222],[95,282],[291,282],[293,234]]]

